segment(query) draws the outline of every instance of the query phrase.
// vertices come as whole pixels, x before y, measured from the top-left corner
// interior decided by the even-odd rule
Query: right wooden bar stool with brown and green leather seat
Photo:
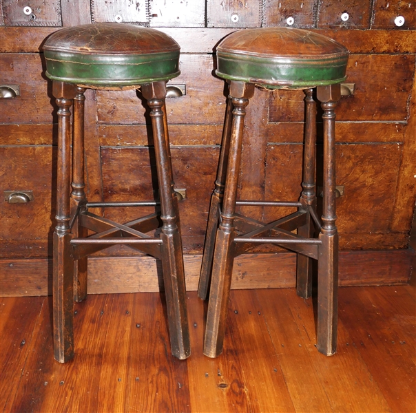
[[[205,238],[198,295],[209,305],[204,354],[222,352],[234,257],[258,244],[277,244],[297,253],[297,293],[311,296],[311,259],[318,260],[318,350],[331,355],[337,341],[337,250],[335,226],[335,106],[346,76],[349,52],[320,34],[287,28],[234,32],[217,47],[216,74],[229,81],[216,189]],[[245,108],[255,85],[267,89],[304,89],[306,123],[302,195],[298,202],[237,200]],[[324,114],[322,222],[316,213],[316,106]],[[268,224],[236,214],[236,205],[297,207]],[[313,237],[313,224],[320,231]],[[298,234],[291,231],[298,229]],[[212,274],[212,276],[211,276]]]

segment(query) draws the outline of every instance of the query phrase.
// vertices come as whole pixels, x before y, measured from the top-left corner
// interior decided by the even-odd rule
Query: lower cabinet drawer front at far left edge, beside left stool
[[[46,257],[54,231],[55,148],[0,147],[0,153],[1,256]],[[25,190],[33,191],[34,200],[24,204],[4,200],[4,191]]]

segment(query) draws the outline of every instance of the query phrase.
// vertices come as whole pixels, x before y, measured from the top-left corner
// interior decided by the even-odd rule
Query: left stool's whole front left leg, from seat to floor
[[[70,107],[74,85],[53,83],[58,110],[58,173],[53,259],[54,357],[65,363],[74,357],[74,262],[70,233]]]

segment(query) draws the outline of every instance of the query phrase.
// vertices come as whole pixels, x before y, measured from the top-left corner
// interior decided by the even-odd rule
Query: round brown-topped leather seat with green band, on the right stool
[[[216,74],[269,89],[341,83],[349,51],[321,34],[288,28],[234,32],[217,47]]]

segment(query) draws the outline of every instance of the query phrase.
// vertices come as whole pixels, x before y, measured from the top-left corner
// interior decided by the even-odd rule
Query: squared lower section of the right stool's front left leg
[[[217,231],[212,266],[214,277],[212,277],[209,290],[207,326],[205,328],[204,354],[207,357],[214,358],[222,353],[233,271],[234,235],[234,231],[225,232],[221,228]]]

